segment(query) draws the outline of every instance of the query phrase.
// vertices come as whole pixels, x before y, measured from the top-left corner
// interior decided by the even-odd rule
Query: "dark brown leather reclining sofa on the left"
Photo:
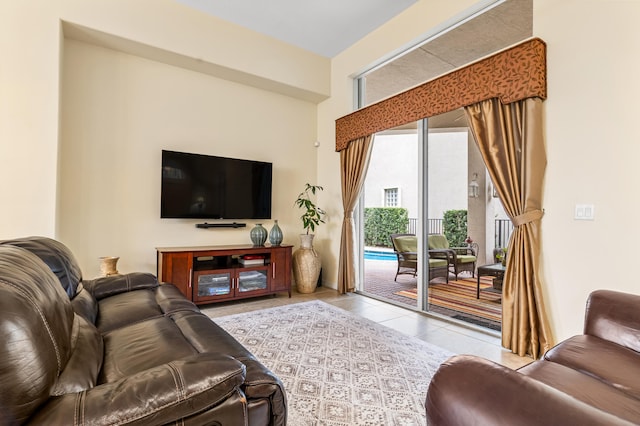
[[[0,242],[0,424],[286,424],[281,381],[171,284]]]

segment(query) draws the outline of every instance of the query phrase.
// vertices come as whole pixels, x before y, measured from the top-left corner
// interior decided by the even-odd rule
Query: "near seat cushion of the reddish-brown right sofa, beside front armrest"
[[[640,424],[640,400],[588,373],[550,361],[533,362],[518,372],[590,406]]]

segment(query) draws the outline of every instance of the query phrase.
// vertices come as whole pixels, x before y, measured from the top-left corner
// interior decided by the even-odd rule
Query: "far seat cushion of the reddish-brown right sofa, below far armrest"
[[[545,359],[589,374],[640,400],[640,354],[599,337],[580,335],[563,341]]]

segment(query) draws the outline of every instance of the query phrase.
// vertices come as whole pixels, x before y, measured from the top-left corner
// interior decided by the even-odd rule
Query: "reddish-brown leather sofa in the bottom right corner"
[[[426,411],[430,426],[640,424],[640,296],[593,292],[584,334],[517,371],[449,359],[429,385]]]

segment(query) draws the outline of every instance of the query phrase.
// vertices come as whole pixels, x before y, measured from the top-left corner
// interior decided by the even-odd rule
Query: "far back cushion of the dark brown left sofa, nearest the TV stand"
[[[0,244],[22,247],[38,256],[58,277],[69,299],[76,295],[82,271],[67,246],[47,237],[25,237],[1,241]]]

